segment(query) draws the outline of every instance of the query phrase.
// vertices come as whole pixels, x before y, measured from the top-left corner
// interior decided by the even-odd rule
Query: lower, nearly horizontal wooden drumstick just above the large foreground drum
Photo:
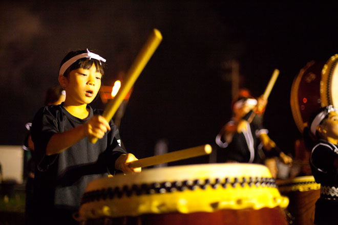
[[[154,166],[161,163],[169,163],[178,160],[184,160],[188,158],[193,158],[200,155],[210,154],[212,152],[212,147],[210,145],[201,145],[193,148],[187,148],[179,151],[173,151],[165,153],[162,155],[155,155],[143,159],[133,161],[129,164],[130,167],[147,167]]]

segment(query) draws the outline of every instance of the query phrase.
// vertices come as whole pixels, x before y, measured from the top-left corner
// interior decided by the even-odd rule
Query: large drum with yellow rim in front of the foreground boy
[[[249,220],[286,224],[282,208],[287,205],[288,198],[280,195],[265,166],[203,164],[97,179],[88,185],[77,219],[161,225],[251,224]]]

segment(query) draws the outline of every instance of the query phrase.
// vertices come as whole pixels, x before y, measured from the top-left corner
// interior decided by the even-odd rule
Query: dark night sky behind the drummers
[[[163,41],[136,81],[121,123],[130,152],[151,156],[161,138],[169,151],[214,145],[231,116],[231,86],[222,67],[231,59],[239,61],[241,86],[256,97],[273,69],[280,70],[264,124],[292,152],[300,133],[291,114],[291,84],[308,61],[337,53],[335,8],[305,2],[2,1],[0,145],[22,144],[24,125],[57,84],[59,62],[69,50],[89,48],[106,58],[103,84],[112,85],[157,28]],[[104,108],[100,99],[93,105]]]

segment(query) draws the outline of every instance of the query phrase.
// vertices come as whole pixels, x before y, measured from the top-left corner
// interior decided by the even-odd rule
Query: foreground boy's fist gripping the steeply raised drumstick
[[[101,139],[110,130],[109,123],[102,116],[93,116],[86,124],[86,136]]]

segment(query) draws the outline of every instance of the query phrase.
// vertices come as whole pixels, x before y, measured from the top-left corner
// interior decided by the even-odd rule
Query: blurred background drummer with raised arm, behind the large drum
[[[253,98],[247,89],[241,89],[239,97],[233,101],[233,118],[226,123],[216,137],[219,147],[225,148],[218,155],[218,162],[239,162],[265,164],[272,177],[277,177],[274,156],[283,163],[292,159],[282,152],[268,136],[263,127],[263,112],[267,100]]]

